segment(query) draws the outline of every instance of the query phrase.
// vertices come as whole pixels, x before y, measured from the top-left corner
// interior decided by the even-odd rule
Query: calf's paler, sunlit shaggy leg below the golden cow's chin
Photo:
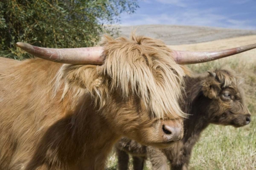
[[[161,149],[147,147],[147,155],[152,163],[152,170],[167,170],[167,157]]]

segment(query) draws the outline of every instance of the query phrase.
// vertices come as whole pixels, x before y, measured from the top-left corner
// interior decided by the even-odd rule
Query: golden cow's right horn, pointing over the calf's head
[[[248,50],[252,50],[254,48],[256,48],[256,44],[220,51],[191,52],[173,50],[172,53],[176,63],[196,64],[217,60],[219,58],[224,58],[234,54],[239,54]]]

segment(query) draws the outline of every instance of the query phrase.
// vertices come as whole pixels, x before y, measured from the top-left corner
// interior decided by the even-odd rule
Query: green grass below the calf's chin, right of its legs
[[[193,149],[190,170],[256,167],[256,119],[243,128],[210,125]]]

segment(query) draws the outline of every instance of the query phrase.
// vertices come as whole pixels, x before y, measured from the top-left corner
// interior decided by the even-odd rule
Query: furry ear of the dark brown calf
[[[216,80],[216,73],[208,71],[209,76],[202,83],[202,91],[205,97],[214,99],[221,92],[221,83]]]

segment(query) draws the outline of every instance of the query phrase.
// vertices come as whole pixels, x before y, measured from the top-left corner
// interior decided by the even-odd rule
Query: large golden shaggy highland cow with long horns
[[[256,48],[191,53],[134,35],[106,36],[102,45],[49,49],[17,43],[50,61],[0,58],[1,170],[103,170],[121,136],[170,147],[183,137],[186,117],[178,102],[185,67],[177,63]]]

